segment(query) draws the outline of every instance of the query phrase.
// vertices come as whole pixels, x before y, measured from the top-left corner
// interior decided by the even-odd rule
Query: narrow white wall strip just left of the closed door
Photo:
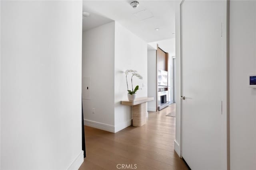
[[[176,131],[174,150],[180,156],[180,130],[181,130],[181,117],[180,117],[180,2],[175,1],[175,55],[176,55]]]

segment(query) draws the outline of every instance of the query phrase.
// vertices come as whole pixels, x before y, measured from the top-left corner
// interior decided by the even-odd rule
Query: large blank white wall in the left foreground
[[[1,2],[1,169],[82,163],[81,14],[81,1]]]

